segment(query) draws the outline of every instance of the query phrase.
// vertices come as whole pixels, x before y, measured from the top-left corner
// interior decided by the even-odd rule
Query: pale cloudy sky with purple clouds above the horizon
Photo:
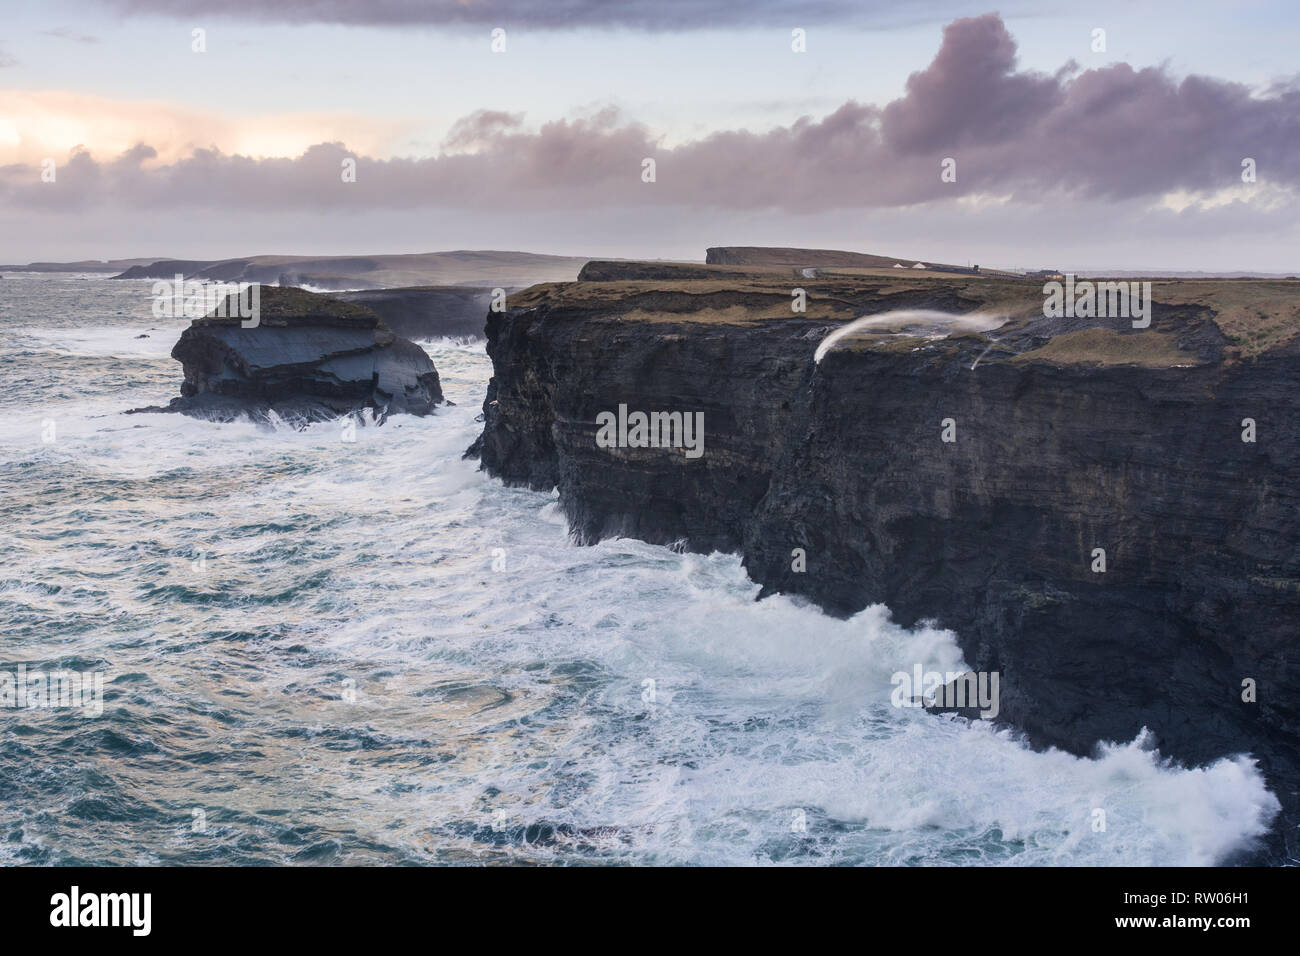
[[[1290,1],[3,3],[0,261],[798,245],[1300,272]]]

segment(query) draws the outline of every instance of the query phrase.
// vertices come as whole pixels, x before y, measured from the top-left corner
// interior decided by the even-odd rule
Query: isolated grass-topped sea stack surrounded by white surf
[[[425,351],[364,306],[302,289],[263,287],[257,324],[196,319],[172,349],[185,367],[181,397],[165,407],[217,421],[321,421],[363,408],[382,420],[428,415],[443,402]]]

